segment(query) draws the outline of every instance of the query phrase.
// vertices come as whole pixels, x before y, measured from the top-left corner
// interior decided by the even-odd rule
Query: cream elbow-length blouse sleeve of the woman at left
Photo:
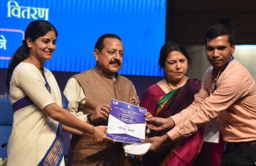
[[[32,65],[15,70],[15,84],[30,97],[41,110],[51,103],[55,103],[52,95],[45,87],[42,75]]]

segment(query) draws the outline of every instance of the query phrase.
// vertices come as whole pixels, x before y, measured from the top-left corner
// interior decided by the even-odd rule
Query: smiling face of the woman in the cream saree
[[[46,60],[50,60],[53,56],[53,52],[56,49],[56,34],[49,31],[44,36],[40,36],[36,40],[32,41],[27,39],[28,47],[30,48],[30,56],[36,58],[41,64],[44,64]]]

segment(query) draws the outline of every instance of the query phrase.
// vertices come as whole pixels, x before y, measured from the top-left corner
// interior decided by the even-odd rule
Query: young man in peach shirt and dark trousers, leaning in
[[[157,151],[166,141],[177,141],[197,131],[197,126],[220,121],[226,142],[221,165],[256,163],[256,86],[249,71],[232,56],[234,32],[221,24],[205,32],[205,53],[212,67],[203,76],[202,87],[191,105],[170,118],[146,113],[148,128],[170,128],[164,136],[146,139]]]

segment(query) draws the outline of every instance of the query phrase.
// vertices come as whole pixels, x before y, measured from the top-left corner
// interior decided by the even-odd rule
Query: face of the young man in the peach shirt
[[[228,42],[228,34],[207,40],[205,52],[209,63],[216,71],[220,71],[232,57],[234,44]]]

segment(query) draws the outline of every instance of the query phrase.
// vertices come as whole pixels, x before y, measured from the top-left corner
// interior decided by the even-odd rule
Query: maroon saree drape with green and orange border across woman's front
[[[189,79],[183,87],[170,91],[158,101],[155,115],[161,118],[168,118],[181,112],[193,102],[194,95],[198,93],[200,87],[201,81]],[[152,131],[150,137],[162,136],[168,130],[170,128],[160,132]],[[143,163],[144,165],[191,165],[201,149],[203,136],[204,128],[200,128],[188,138],[163,144],[156,153],[146,154],[143,157]]]

